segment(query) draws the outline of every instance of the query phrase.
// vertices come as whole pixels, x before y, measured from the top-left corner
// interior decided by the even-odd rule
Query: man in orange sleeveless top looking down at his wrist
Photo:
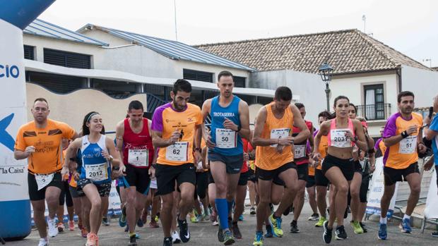
[[[297,165],[293,162],[292,145],[309,137],[307,125],[300,111],[291,105],[292,91],[289,87],[278,87],[271,104],[260,109],[255,123],[253,146],[256,146],[256,173],[259,177],[260,201],[257,206],[257,226],[253,245],[263,245],[263,222],[268,217],[268,204],[273,200],[271,194],[273,180],[284,183],[283,198],[275,212],[269,216],[273,234],[282,237],[281,215],[290,207],[299,186],[297,184]],[[292,126],[301,132],[292,137]]]

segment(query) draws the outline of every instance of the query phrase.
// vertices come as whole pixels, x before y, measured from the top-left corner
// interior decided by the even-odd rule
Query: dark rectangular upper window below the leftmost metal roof
[[[85,54],[44,49],[44,62],[67,68],[91,68],[91,56]]]

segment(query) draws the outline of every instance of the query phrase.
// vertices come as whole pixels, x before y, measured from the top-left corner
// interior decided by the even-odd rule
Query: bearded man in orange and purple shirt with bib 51
[[[418,152],[426,152],[422,142],[422,116],[413,113],[415,106],[412,92],[400,92],[397,96],[398,109],[386,122],[384,130],[384,195],[381,197],[379,239],[386,240],[386,213],[393,197],[396,183],[408,181],[410,195],[408,206],[401,223],[401,231],[410,233],[410,215],[420,197],[421,179],[418,170]],[[418,149],[418,152],[417,152]]]

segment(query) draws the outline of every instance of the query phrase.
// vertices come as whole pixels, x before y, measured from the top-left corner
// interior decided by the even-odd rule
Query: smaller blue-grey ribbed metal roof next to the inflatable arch
[[[81,35],[81,33],[73,32],[64,27],[48,23],[47,21],[36,19],[23,30],[23,33],[30,35],[37,35],[42,37],[50,37],[54,39],[64,39],[72,42],[80,42],[84,44],[95,44],[99,46],[108,46],[104,42],[92,39]]]

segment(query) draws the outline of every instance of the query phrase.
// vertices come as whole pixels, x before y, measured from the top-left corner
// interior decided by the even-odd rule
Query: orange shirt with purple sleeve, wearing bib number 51
[[[401,135],[411,125],[417,125],[420,128],[422,126],[422,116],[418,113],[412,113],[410,119],[404,119],[401,113],[394,113],[386,122],[383,137],[389,138]],[[394,169],[405,169],[417,162],[417,142],[418,133],[413,133],[403,138],[397,144],[387,147],[384,153],[384,166]]]

